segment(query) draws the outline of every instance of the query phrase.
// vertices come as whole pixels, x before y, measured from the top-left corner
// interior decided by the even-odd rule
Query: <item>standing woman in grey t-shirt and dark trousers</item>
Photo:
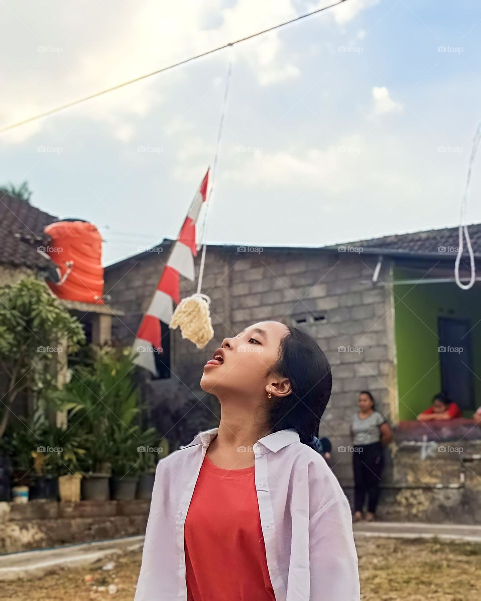
[[[353,415],[354,520],[362,520],[367,496],[366,521],[372,522],[379,501],[379,484],[384,468],[383,445],[393,440],[393,433],[383,415],[376,411],[373,395],[359,392],[359,410]]]

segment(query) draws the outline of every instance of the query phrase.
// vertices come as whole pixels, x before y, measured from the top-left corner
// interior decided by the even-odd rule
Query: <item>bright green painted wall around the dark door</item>
[[[419,272],[394,267],[394,279],[418,279]],[[454,275],[454,274],[453,274]],[[470,319],[476,407],[481,405],[481,288],[446,284],[394,286],[399,418],[415,419],[441,390],[438,317]],[[477,377],[476,377],[477,376]],[[465,413],[471,417],[472,412]]]

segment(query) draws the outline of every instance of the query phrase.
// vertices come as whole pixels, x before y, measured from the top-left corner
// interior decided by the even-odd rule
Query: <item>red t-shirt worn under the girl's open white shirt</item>
[[[184,548],[188,601],[275,601],[254,466],[221,469],[205,456],[185,519]]]

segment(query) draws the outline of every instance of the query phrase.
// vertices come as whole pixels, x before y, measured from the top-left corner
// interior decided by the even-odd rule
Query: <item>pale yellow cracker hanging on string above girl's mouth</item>
[[[210,313],[211,299],[206,294],[187,296],[177,305],[170,322],[170,328],[181,328],[182,338],[193,342],[197,349],[203,349],[214,338]]]

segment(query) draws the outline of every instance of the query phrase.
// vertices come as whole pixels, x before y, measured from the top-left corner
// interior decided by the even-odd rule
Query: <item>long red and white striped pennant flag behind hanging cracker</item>
[[[144,315],[132,345],[137,353],[134,363],[158,375],[155,367],[155,354],[161,349],[161,320],[170,325],[173,315],[173,304],[181,302],[181,279],[195,280],[194,257],[197,256],[197,219],[203,203],[207,200],[209,171],[200,184],[200,188],[192,201],[190,210],[182,225],[181,233],[172,246],[169,259],[164,267],[160,281],[149,308]]]

